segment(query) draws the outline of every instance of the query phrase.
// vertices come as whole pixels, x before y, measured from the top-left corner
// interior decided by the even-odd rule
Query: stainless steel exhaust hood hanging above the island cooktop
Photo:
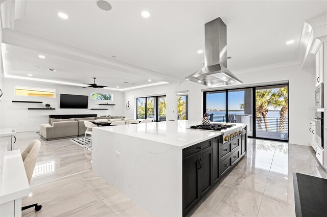
[[[242,84],[227,69],[227,27],[218,17],[204,25],[204,67],[185,79],[209,87]]]

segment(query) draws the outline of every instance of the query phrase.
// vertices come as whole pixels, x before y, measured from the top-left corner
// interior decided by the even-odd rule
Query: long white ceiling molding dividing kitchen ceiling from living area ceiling
[[[111,60],[93,53],[75,49],[72,47],[64,46],[58,43],[47,41],[41,38],[37,38],[25,33],[4,29],[2,34],[2,41],[5,44],[18,46],[26,49],[31,49],[49,55],[54,55],[70,60],[75,60],[91,65],[97,65],[108,69],[118,70],[126,73],[132,73],[139,76],[151,75],[158,80],[162,80],[168,83],[180,82],[180,79],[161,74],[156,71],[148,70],[145,68],[133,66],[127,63]]]

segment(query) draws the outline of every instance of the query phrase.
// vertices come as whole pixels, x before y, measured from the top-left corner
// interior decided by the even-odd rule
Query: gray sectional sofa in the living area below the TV
[[[104,116],[104,117],[86,117],[86,118],[68,118],[56,119],[49,118],[49,124],[40,124],[40,135],[47,140],[60,139],[65,137],[77,137],[84,135],[86,127],[84,121],[94,121],[97,119],[110,119],[120,118],[125,119],[124,116]]]

